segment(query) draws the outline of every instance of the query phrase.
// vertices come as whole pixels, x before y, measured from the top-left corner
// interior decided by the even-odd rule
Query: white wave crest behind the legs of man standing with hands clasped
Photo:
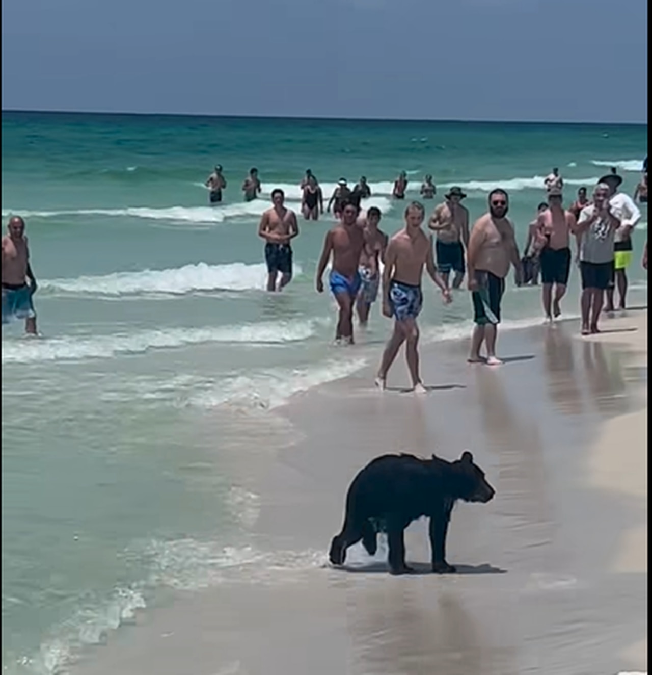
[[[295,264],[295,277],[301,265]],[[129,295],[182,295],[196,291],[263,290],[267,279],[264,263],[224,265],[183,265],[172,269],[146,269],[140,272],[114,272],[74,279],[42,279],[40,290],[49,294],[92,294],[120,297]]]

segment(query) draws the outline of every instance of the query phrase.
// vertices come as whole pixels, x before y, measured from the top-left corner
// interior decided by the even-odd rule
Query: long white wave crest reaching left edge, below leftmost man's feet
[[[283,344],[307,340],[315,332],[314,321],[279,321],[220,328],[171,328],[110,335],[66,335],[62,338],[40,340],[8,339],[2,342],[2,363],[111,358],[118,354],[143,354],[152,349],[174,349],[212,342]]]

